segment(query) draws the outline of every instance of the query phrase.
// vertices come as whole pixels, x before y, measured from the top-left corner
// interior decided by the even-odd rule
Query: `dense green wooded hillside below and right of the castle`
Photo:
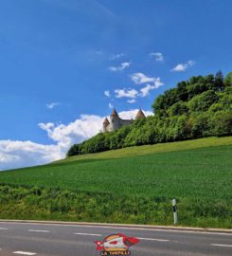
[[[232,72],[191,77],[152,104],[154,115],[73,145],[67,156],[135,145],[232,135]]]

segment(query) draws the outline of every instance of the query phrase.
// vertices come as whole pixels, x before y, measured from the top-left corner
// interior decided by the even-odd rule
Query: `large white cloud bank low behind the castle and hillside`
[[[119,112],[122,119],[135,118],[137,109]],[[146,116],[151,111],[144,111]],[[39,127],[53,140],[50,145],[32,141],[0,140],[0,171],[49,163],[65,157],[71,145],[93,137],[101,130],[103,117],[81,115],[68,124],[41,122]]]

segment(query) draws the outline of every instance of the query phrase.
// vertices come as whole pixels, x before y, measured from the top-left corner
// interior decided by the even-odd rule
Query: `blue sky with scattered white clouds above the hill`
[[[0,171],[51,162],[191,76],[232,71],[230,0],[0,1]]]

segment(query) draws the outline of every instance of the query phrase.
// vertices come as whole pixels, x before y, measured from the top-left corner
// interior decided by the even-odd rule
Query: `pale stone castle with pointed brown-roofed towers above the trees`
[[[145,118],[146,117],[144,113],[142,112],[141,109],[139,109],[135,119],[145,119]],[[116,109],[114,108],[110,116],[110,121],[107,118],[104,119],[103,121],[103,133],[116,131],[122,126],[131,124],[133,122],[134,122],[134,119],[120,119],[118,114],[116,113]]]

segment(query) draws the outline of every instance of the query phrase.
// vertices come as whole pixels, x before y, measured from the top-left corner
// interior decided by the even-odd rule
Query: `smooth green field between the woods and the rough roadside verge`
[[[118,155],[124,157],[103,159]],[[80,155],[52,165],[3,172],[0,183],[167,197],[232,196],[232,137],[134,147],[101,153],[98,159],[93,156],[97,157]]]

